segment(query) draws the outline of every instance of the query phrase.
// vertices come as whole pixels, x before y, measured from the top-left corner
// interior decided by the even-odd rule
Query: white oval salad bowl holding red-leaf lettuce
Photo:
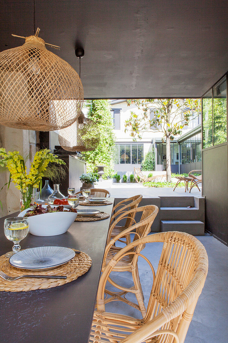
[[[46,208],[48,205],[42,205]],[[51,205],[58,207],[58,205]],[[18,217],[23,217],[28,210],[26,209],[18,214]],[[28,218],[29,232],[34,236],[56,236],[67,232],[68,228],[74,223],[77,213],[74,212],[52,212],[34,215]]]

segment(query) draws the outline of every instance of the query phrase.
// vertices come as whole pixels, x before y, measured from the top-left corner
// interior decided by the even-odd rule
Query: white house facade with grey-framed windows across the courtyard
[[[116,135],[113,155],[114,169],[120,173],[133,173],[134,167],[140,167],[144,156],[154,147],[155,171],[166,170],[166,144],[162,142],[162,132],[154,132],[153,130],[144,132],[141,140],[137,139],[136,142],[133,142],[130,131],[124,132],[125,121],[130,117],[131,111],[140,114],[138,108],[135,105],[127,106],[127,99],[112,100],[110,108]],[[151,111],[151,115],[153,115],[153,111]],[[188,169],[189,171],[201,169],[200,128],[201,116],[190,120],[189,126],[182,129],[181,136],[175,137],[170,143],[172,173],[186,173]],[[184,140],[181,140],[182,136]],[[198,164],[195,165],[195,163]],[[195,166],[197,168],[193,168]]]

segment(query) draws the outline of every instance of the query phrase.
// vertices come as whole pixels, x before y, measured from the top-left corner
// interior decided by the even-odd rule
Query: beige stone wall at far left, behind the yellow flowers
[[[27,168],[30,167],[30,162],[36,153],[36,144],[38,141],[38,132],[8,128],[0,125],[0,147],[4,147],[6,151],[19,151],[23,157],[29,155],[29,160],[26,163]],[[0,189],[9,181],[9,173],[0,173]],[[0,191],[0,199],[3,210],[0,208],[0,217],[19,210],[20,192],[11,183],[7,192],[7,186]]]

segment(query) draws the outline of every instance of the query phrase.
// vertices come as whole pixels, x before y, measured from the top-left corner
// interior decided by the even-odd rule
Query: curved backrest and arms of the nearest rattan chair
[[[182,232],[164,232],[145,236],[117,252],[106,265],[98,288],[98,311],[105,311],[105,284],[118,261],[132,251],[137,251],[138,246],[155,242],[162,242],[163,249],[156,276],[151,266],[154,281],[144,325],[124,339],[123,343],[144,342],[154,336],[154,332],[157,335],[156,342],[173,342],[177,334],[179,342],[184,342],[206,279],[208,258],[204,246],[197,238]],[[119,319],[120,316],[118,315]],[[157,332],[159,329],[160,331]],[[166,330],[169,334],[164,334]]]

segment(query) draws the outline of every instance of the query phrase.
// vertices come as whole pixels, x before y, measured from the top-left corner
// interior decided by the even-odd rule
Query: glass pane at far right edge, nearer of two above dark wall
[[[226,142],[226,78],[213,88],[213,139],[214,145]]]

